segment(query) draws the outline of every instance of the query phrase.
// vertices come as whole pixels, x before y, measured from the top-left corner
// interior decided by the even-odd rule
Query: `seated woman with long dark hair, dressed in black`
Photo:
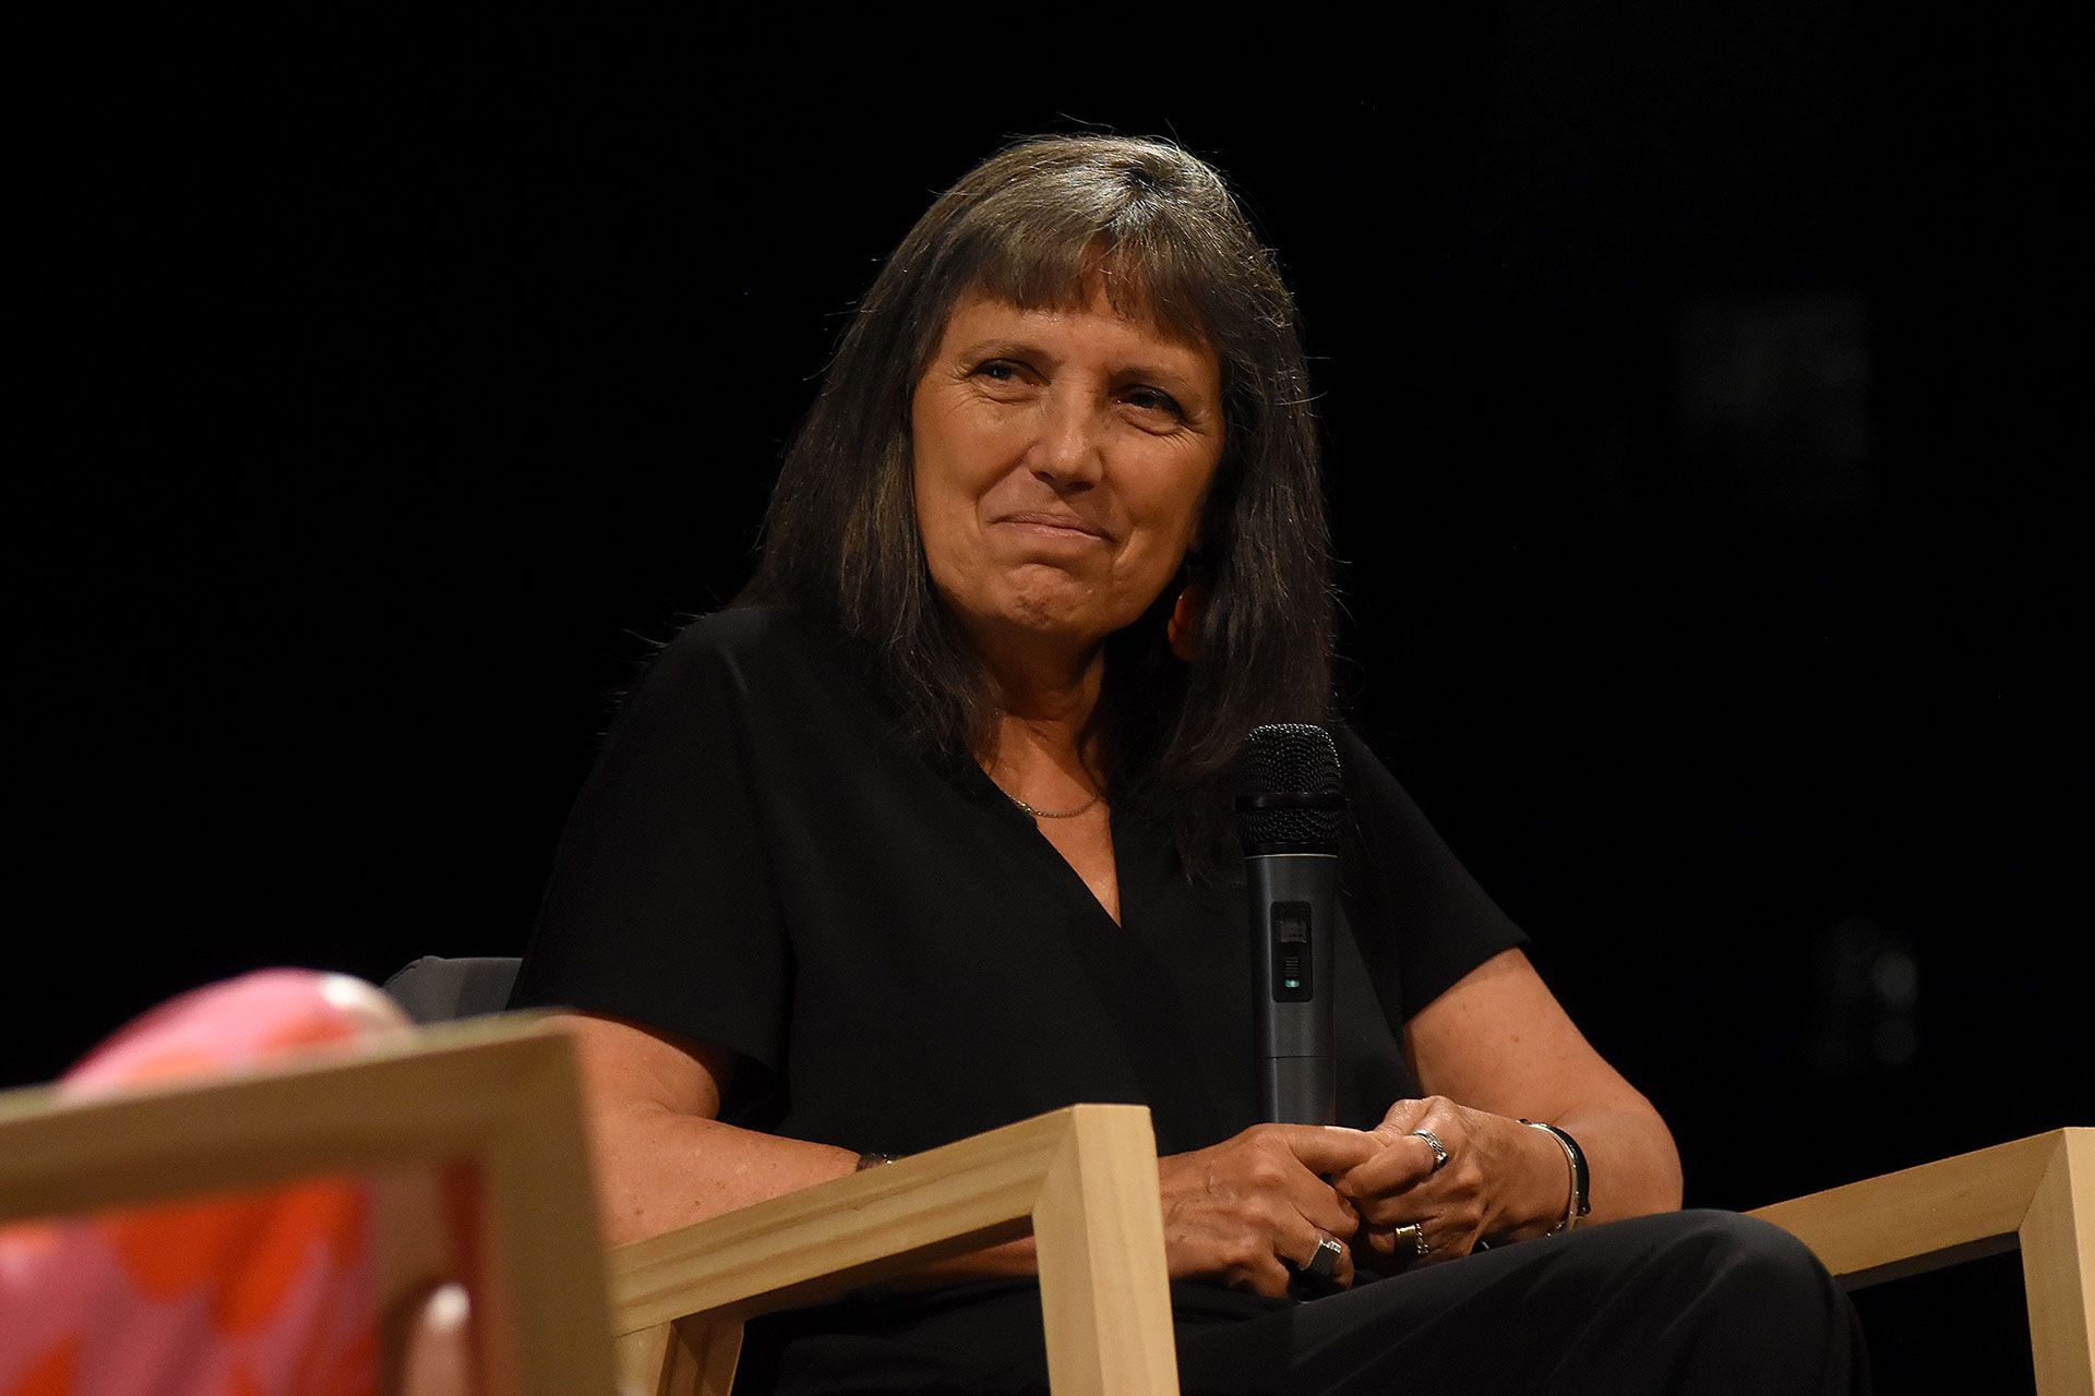
[[[756,580],[620,714],[522,971],[580,1011],[612,1239],[1140,1101],[1186,1390],[1850,1390],[1846,1300],[1674,1212],[1666,1124],[1343,726],[1372,1128],[1255,1124],[1230,781],[1253,726],[1330,720],[1307,402],[1270,253],[1175,147],[1020,142],[909,232]],[[1031,1260],[758,1325],[744,1377],[1039,1388]],[[1303,1266],[1349,1291],[1291,1304]]]

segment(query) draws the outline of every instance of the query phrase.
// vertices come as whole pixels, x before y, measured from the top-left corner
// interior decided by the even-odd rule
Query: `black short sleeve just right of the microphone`
[[[1414,1017],[1456,980],[1527,933],[1469,875],[1446,839],[1347,728],[1335,730],[1353,850],[1345,860],[1353,933],[1391,1026]]]

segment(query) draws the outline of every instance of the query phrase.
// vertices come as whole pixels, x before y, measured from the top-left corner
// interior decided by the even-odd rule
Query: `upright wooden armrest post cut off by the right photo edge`
[[[2095,1134],[2064,1130],[2022,1222],[2038,1396],[2095,1396]]]

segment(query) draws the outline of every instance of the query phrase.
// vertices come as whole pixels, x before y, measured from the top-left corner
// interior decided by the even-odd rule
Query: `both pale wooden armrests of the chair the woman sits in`
[[[2034,1134],[1749,1216],[1802,1239],[1848,1287],[2020,1245],[2038,1392],[2095,1396],[2095,1130]],[[626,1388],[725,1396],[744,1319],[1006,1241],[1027,1218],[1054,1390],[1175,1392],[1154,1136],[1131,1105],[1077,1105],[614,1249]]]

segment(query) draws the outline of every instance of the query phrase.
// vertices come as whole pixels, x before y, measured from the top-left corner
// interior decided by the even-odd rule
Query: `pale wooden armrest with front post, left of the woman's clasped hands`
[[[1175,1392],[1156,1136],[1142,1105],[1071,1105],[620,1245],[612,1327],[645,1337],[696,1314],[737,1323],[1027,1231],[1056,1392]]]

